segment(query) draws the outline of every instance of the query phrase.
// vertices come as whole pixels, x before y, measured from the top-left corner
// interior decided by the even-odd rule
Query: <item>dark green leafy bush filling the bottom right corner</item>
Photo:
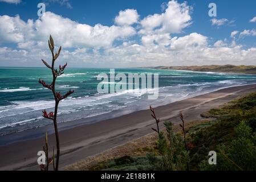
[[[256,134],[246,122],[239,123],[234,131],[236,139],[217,147],[217,165],[203,160],[199,164],[201,170],[256,170]]]

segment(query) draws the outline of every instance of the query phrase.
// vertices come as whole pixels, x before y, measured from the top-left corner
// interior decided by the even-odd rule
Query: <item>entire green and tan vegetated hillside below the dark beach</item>
[[[117,157],[114,155],[99,160],[91,166],[88,164],[76,166],[76,169],[193,171],[256,169],[256,92],[202,113],[201,116],[204,118],[202,121],[186,122],[180,115],[181,126],[175,126],[169,120],[161,121],[156,117],[156,113],[153,113],[155,110],[152,107],[151,111],[157,124],[164,122],[164,130],[153,129],[156,133],[119,147]],[[187,129],[184,127],[185,124]],[[131,152],[125,152],[125,148]],[[209,151],[217,152],[216,165],[208,163]],[[106,154],[104,155],[107,156]],[[74,167],[70,166],[67,169]]]

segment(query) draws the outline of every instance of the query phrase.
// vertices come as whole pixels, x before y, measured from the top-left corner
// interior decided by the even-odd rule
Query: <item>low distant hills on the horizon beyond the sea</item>
[[[205,65],[205,66],[180,66],[180,67],[155,67],[155,69],[174,69],[197,72],[226,72],[256,74],[256,66],[246,65]]]

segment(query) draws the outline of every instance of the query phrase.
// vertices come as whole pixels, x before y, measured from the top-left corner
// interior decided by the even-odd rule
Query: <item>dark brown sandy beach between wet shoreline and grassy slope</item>
[[[182,112],[186,121],[189,122],[193,119],[200,119],[200,114],[203,111],[225,104],[225,102],[233,100],[242,94],[255,90],[256,84],[220,89],[215,92],[156,107],[156,113],[161,120],[171,118],[174,123],[178,123],[178,114]],[[101,121],[96,123],[75,126],[72,129],[60,131],[62,147],[60,167],[63,169],[68,164],[78,162],[87,156],[99,154],[109,148],[152,133],[151,127],[153,125],[155,125],[155,122],[151,118],[150,111],[140,110],[119,117],[102,118]],[[35,134],[35,131],[31,133],[31,135]],[[54,135],[49,135],[48,140],[49,146],[53,146],[55,143]],[[0,169],[39,169],[36,165],[36,154],[39,150],[42,150],[43,145],[44,138],[37,138],[0,146]]]

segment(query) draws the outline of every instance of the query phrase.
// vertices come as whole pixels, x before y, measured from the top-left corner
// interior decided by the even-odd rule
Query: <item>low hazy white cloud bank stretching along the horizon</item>
[[[210,64],[255,64],[256,48],[228,47],[218,44],[212,47],[208,38],[196,32],[170,38],[166,35],[148,37],[149,42],[138,44],[124,42],[120,46],[105,48],[103,52],[87,48],[63,49],[59,64],[70,67],[143,67],[159,65],[210,65]],[[153,43],[152,43],[153,42]],[[151,44],[152,43],[152,44]],[[216,46],[216,44],[215,44]],[[40,59],[50,59],[48,49],[0,48],[1,65],[38,66]]]

